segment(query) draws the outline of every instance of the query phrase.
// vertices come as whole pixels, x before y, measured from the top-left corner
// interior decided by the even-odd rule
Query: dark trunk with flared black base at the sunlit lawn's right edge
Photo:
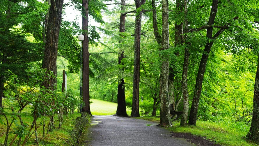
[[[125,14],[123,13],[125,11],[125,0],[121,0],[120,6],[121,6],[121,12],[120,12],[120,32],[125,32]],[[123,36],[122,36],[123,37]],[[122,41],[120,41],[121,43]],[[120,52],[119,52],[119,59],[118,64],[122,64],[121,61],[124,57],[124,51],[122,49],[122,45],[120,45]],[[122,68],[124,70],[124,68]],[[126,111],[126,101],[125,101],[125,82],[124,79],[121,78],[120,82],[118,83],[118,94],[117,94],[117,111],[116,115],[127,117],[127,111]]]

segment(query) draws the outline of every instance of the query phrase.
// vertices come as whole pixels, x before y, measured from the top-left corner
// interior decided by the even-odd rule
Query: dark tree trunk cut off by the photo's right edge
[[[259,57],[259,54],[258,54]],[[259,58],[256,71],[254,95],[253,95],[253,118],[249,132],[246,135],[248,140],[251,140],[259,145]]]

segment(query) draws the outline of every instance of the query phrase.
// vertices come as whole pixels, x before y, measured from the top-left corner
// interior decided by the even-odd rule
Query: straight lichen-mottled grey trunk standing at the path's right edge
[[[169,23],[168,23],[168,0],[162,0],[162,50],[169,48]],[[168,97],[168,74],[169,74],[169,61],[168,54],[162,53],[162,68],[160,70],[160,125],[161,126],[172,126],[170,119],[170,107]]]

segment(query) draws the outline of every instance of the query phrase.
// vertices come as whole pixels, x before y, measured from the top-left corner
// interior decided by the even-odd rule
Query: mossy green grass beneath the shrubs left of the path
[[[8,117],[10,117],[9,114],[7,114]],[[38,118],[37,125],[39,128],[37,129],[38,133],[38,139],[39,139],[39,145],[46,145],[46,146],[53,146],[53,145],[67,145],[66,141],[70,138],[70,133],[74,129],[74,121],[77,117],[81,117],[81,114],[75,113],[75,114],[69,114],[68,116],[63,116],[63,124],[60,129],[58,129],[58,119],[55,116],[55,129],[53,132],[47,132],[47,124],[49,124],[49,118],[46,117],[46,126],[45,126],[45,137],[43,137],[43,126],[42,126],[42,117]],[[3,118],[3,117],[1,117]],[[22,113],[22,119],[24,123],[31,124],[32,121],[32,115],[29,113]],[[19,124],[19,123],[18,123]],[[8,143],[14,138],[15,134],[13,134],[13,131],[15,130],[15,124],[11,127]],[[29,127],[27,127],[29,129]],[[0,144],[4,143],[5,138],[5,132],[6,132],[6,126],[3,124],[0,124]],[[35,145],[35,134],[32,134],[29,141],[26,143],[26,145]],[[14,145],[17,145],[18,138],[16,138]]]

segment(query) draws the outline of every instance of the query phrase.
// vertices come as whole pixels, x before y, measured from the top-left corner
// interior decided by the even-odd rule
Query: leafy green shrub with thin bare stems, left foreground
[[[58,112],[59,127],[61,127],[61,124],[63,124],[63,111],[66,115],[69,109],[73,113],[75,108],[79,105],[79,99],[71,94],[71,90],[60,93],[40,87],[45,78],[53,78],[53,74],[48,73],[46,75],[46,70],[44,69],[37,68],[37,66],[31,68],[27,74],[28,78],[24,81],[19,80],[17,75],[13,73],[10,74],[10,82],[8,82],[8,90],[5,94],[7,97],[5,103],[8,107],[5,109],[9,108],[11,111],[4,111],[3,114],[6,115],[11,112],[12,115],[6,121],[3,120],[1,116],[1,123],[7,126],[7,131],[12,126],[12,123],[15,124],[12,133],[22,138],[19,139],[18,143],[20,143],[21,140],[23,143],[26,143],[30,138],[29,135],[33,134],[32,128],[35,128],[35,131],[38,129],[38,126],[36,126],[37,119],[45,119],[45,115],[52,116]],[[49,102],[53,100],[55,106],[49,104]],[[29,108],[32,113],[33,118],[29,121],[25,121],[26,116],[24,117],[24,115],[21,114],[21,111],[25,108]],[[8,135],[11,134],[7,132],[6,136]],[[11,137],[15,140],[16,136]],[[36,137],[36,139],[38,139],[38,137]],[[6,140],[8,140],[8,137]]]

